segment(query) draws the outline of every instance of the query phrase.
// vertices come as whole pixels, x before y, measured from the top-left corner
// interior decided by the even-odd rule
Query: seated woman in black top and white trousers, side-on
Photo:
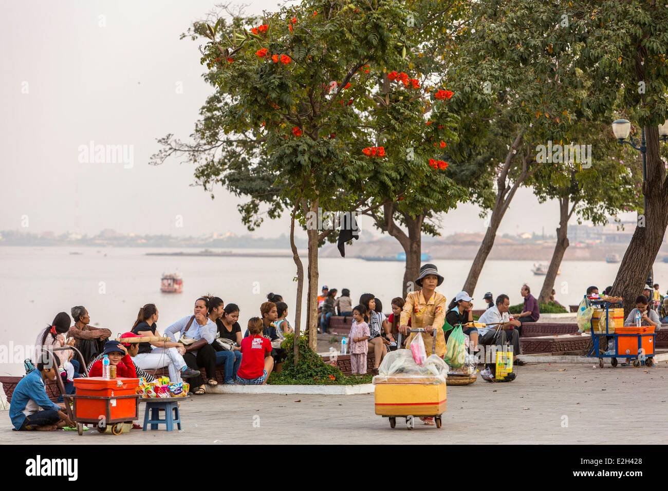
[[[137,320],[130,332],[136,336],[160,336],[156,322],[158,308],[154,303],[147,303],[139,309]],[[154,370],[168,367],[170,381],[182,382],[183,379],[196,377],[199,370],[188,367],[183,355],[186,348],[176,341],[154,341],[139,343],[139,351],[135,357],[136,365],[143,370]],[[134,365],[134,363],[133,363]]]

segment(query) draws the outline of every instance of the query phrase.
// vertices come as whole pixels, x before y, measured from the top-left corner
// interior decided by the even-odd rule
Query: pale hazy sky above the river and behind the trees
[[[248,2],[246,2],[248,3]],[[275,10],[254,0],[247,13]],[[3,1],[0,17],[0,229],[95,234],[242,234],[237,198],[211,200],[192,184],[193,166],[149,166],[156,138],[187,139],[212,88],[198,44],[180,40],[212,1]],[[90,142],[132,146],[132,165],[86,163]],[[128,154],[128,157],[130,155]],[[83,160],[83,162],[81,162]],[[123,162],[128,162],[124,164]],[[478,208],[444,216],[444,234],[483,231]],[[177,216],[182,216],[182,227]],[[633,219],[633,216],[630,216]],[[26,220],[27,218],[27,220]],[[500,233],[552,233],[556,202],[516,195]],[[363,228],[368,228],[362,223]],[[256,234],[289,232],[289,220]]]

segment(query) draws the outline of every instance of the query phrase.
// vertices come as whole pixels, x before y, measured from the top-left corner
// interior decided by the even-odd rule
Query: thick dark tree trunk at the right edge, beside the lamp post
[[[615,283],[613,296],[624,297],[624,311],[628,314],[635,307],[635,297],[640,295],[659,253],[668,226],[668,181],[659,157],[659,130],[656,126],[645,128],[647,139],[647,180],[643,194],[647,200],[645,213],[638,217],[631,243],[624,254]]]

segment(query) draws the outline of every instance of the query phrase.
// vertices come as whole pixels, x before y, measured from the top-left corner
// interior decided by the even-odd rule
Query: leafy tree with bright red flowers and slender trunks
[[[295,221],[307,226],[319,208],[397,208],[406,216],[418,203],[422,210],[438,208],[453,183],[428,162],[442,160],[440,142],[456,138],[456,118],[445,107],[433,109],[442,104],[434,98],[442,88],[424,88],[406,58],[415,31],[407,18],[421,5],[387,0],[353,8],[305,1],[263,19],[196,23],[191,35],[208,38],[202,63],[216,93],[202,109],[195,143],[168,135],[156,160],[184,152],[198,164],[196,176],[205,189],[222,184],[249,196],[242,205],[249,226],[261,221],[261,206],[269,206],[270,216],[291,210],[292,236]],[[267,29],[261,32],[259,25]],[[221,62],[227,58],[233,63]],[[388,67],[410,71],[407,83],[402,75],[401,87],[388,90]],[[422,109],[424,104],[432,109]],[[428,114],[434,128],[426,125]],[[244,181],[247,176],[251,182]],[[331,232],[307,227],[311,347],[317,329],[318,246]],[[293,253],[299,315],[304,275],[296,248]]]

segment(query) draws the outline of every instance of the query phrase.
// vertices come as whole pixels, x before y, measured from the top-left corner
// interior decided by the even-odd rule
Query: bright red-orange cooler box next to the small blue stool
[[[102,377],[74,379],[74,418],[80,422],[98,421],[100,416],[104,416],[107,422],[136,420],[139,417],[138,386],[139,379],[124,377],[109,380]]]

